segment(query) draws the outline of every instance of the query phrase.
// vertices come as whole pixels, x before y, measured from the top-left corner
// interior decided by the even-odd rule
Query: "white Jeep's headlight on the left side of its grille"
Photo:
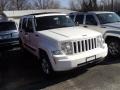
[[[67,55],[73,54],[72,42],[62,42],[61,49]]]

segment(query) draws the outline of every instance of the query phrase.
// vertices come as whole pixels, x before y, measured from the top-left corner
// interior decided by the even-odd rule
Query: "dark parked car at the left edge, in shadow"
[[[19,44],[18,31],[13,21],[0,21],[0,50],[10,49]]]

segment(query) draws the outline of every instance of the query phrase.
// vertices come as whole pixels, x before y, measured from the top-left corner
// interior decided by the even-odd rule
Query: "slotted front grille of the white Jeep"
[[[80,53],[95,49],[98,47],[97,38],[80,40],[73,42],[73,53]]]

